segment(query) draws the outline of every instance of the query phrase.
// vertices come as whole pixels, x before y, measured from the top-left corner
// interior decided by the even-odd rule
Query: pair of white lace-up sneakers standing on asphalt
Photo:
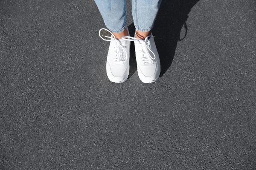
[[[111,82],[125,82],[129,76],[129,59],[130,59],[130,44],[134,41],[137,69],[140,80],[144,83],[151,83],[157,81],[160,75],[160,59],[157,48],[154,42],[153,35],[149,35],[145,40],[136,38],[136,31],[134,37],[130,37],[128,28],[128,36],[117,39],[112,33],[111,37],[102,36],[102,30],[111,31],[102,28],[99,30],[99,37],[102,40],[110,41],[107,57],[107,75]],[[103,37],[109,38],[104,39]]]

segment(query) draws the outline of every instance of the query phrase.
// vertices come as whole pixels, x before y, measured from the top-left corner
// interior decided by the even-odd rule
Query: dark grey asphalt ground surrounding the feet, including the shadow
[[[0,169],[255,170],[255,14],[163,0],[160,79],[140,82],[131,47],[116,84],[93,0],[0,0]]]

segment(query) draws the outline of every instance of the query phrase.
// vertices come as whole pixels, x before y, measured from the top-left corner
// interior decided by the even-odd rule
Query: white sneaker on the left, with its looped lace
[[[125,82],[125,80],[129,76],[129,59],[130,59],[130,42],[122,39],[117,39],[112,33],[111,37],[102,36],[100,32],[102,30],[106,30],[111,33],[111,31],[102,28],[99,30],[99,37],[102,40],[110,41],[109,49],[108,49],[108,57],[107,57],[107,75],[108,79],[111,82]],[[128,35],[129,31],[126,28]],[[103,37],[109,38],[109,40],[104,39]]]

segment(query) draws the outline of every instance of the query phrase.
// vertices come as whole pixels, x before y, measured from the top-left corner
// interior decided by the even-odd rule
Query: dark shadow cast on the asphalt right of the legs
[[[186,20],[189,12],[198,1],[199,0],[162,0],[152,30],[153,35],[156,37],[155,42],[161,62],[160,77],[163,76],[172,65],[177,42],[186,37]],[[186,33],[183,37],[180,37],[180,31],[183,26],[186,29]]]

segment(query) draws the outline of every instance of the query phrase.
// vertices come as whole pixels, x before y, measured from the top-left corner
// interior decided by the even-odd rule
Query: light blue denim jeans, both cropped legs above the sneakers
[[[99,8],[106,27],[120,33],[127,27],[126,0],[94,0]],[[134,26],[139,31],[150,31],[162,0],[132,0]]]

